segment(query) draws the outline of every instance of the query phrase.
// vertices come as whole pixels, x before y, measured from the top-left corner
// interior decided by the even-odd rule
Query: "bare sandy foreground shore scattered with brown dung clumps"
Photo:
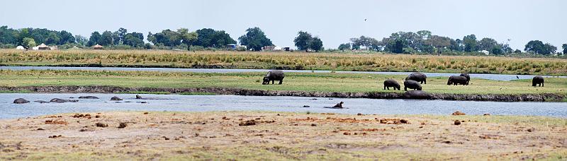
[[[462,122],[454,125],[455,120]],[[567,119],[94,112],[0,120],[0,160],[376,158],[566,160]]]

